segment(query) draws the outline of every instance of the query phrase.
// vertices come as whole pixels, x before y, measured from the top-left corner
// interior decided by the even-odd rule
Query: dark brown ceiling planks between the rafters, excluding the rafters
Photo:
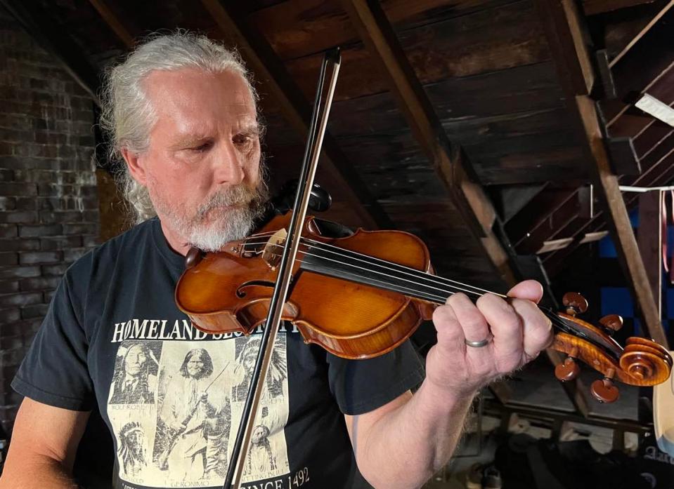
[[[226,37],[199,2],[110,0],[104,5],[124,20],[131,36],[183,27]],[[45,0],[41,7],[99,69],[125,51],[124,37],[89,1]],[[581,147],[569,130],[555,65],[531,1],[389,0],[382,7],[447,137],[462,147],[481,185],[585,177]],[[387,77],[339,2],[247,2],[245,11],[234,15],[264,37],[306,100],[313,99],[322,51],[342,46],[328,130],[342,164],[365,182],[361,197],[371,196],[396,228],[422,236],[440,273],[502,290],[470,223],[415,140]],[[268,81],[259,79],[258,88],[271,175],[283,181],[299,165],[304,134],[288,123]],[[318,181],[336,196],[329,217],[349,225],[365,222],[353,210],[354,198],[342,195],[348,193],[344,183],[325,171]],[[367,224],[372,227],[372,221]]]

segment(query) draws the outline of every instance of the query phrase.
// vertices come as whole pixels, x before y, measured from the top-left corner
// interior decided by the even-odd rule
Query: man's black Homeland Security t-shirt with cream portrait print
[[[12,384],[51,406],[98,407],[115,441],[115,488],[223,483],[261,328],[249,337],[193,328],[174,302],[182,270],[157,219],[82,257]],[[367,413],[422,378],[408,342],[346,361],[282,325],[242,488],[369,487],[343,413]]]

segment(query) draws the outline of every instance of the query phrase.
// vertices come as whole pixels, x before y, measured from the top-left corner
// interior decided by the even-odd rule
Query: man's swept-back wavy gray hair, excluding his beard
[[[101,129],[110,142],[110,161],[117,162],[117,184],[131,206],[134,222],[139,223],[157,215],[148,189],[131,177],[122,158],[122,149],[134,153],[146,151],[150,145],[150,130],[157,116],[145,95],[143,81],[155,70],[173,71],[198,68],[205,72],[234,72],[245,79],[252,99],[257,105],[257,93],[252,77],[240,55],[201,36],[185,31],[172,34],[150,34],[131,51],[124,62],[105,74],[101,92]]]

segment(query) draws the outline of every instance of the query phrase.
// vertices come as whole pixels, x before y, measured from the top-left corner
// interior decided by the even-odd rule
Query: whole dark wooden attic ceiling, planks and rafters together
[[[273,187],[297,173],[322,53],[340,46],[317,177],[335,201],[325,217],[417,234],[440,274],[477,286],[503,291],[522,274],[554,276],[574,250],[606,234],[606,220],[633,199],[622,203],[607,189],[597,161],[621,184],[674,178],[672,128],[633,107],[646,92],[674,102],[674,0],[585,0],[573,12],[566,1],[382,0],[375,20],[357,29],[351,9],[366,4],[37,0],[32,15],[99,72],[131,39],[159,29],[239,46],[257,76]],[[377,36],[395,45],[388,61]],[[608,152],[598,160],[602,139]],[[463,173],[451,175],[457,168]],[[594,210],[591,182],[615,204],[611,213]],[[628,246],[631,230],[621,232]],[[640,301],[649,309],[647,297]],[[568,393],[587,415],[576,387]]]

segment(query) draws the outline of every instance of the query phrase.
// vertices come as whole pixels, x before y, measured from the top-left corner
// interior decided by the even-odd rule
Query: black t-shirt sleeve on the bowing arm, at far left
[[[70,410],[91,410],[93,382],[86,366],[88,344],[72,301],[68,274],[61,281],[12,387],[34,401]]]

